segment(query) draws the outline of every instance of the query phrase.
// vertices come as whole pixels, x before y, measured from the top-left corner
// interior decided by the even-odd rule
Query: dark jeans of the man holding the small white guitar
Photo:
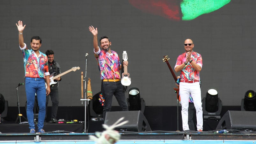
[[[112,98],[115,96],[122,111],[128,111],[126,97],[123,91],[121,81],[118,82],[101,82],[102,96],[105,98],[103,107],[103,118],[105,119],[106,112],[111,110]]]

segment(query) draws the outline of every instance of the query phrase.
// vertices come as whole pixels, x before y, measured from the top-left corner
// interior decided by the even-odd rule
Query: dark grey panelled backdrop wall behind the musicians
[[[91,78],[93,95],[100,91],[90,25],[98,28],[99,36],[111,38],[111,48],[120,58],[127,51],[130,87],[140,89],[147,106],[176,105],[175,83],[162,58],[168,55],[174,68],[187,38],[194,41],[194,51],[203,58],[201,97],[205,97],[209,87],[216,87],[223,105],[240,105],[247,90],[256,90],[255,4],[254,0],[231,0],[219,10],[194,20],[174,21],[144,13],[128,0],[2,0],[0,93],[9,106],[17,105],[16,86],[24,83],[24,68],[15,23],[22,20],[26,24],[24,38],[28,46],[31,36],[39,35],[41,52],[52,49],[62,72],[76,66],[81,68],[62,76],[60,106],[82,105],[81,71],[85,73],[85,53],[89,54],[87,78]],[[20,105],[24,106],[25,86],[18,87],[18,94]],[[113,105],[118,105],[115,99]]]

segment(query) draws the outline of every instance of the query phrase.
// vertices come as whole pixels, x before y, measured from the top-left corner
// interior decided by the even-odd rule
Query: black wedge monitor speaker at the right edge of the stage
[[[238,129],[256,131],[256,112],[227,111],[221,118],[216,130]]]

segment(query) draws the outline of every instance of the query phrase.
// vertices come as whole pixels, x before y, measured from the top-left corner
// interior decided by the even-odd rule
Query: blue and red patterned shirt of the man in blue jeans
[[[25,43],[24,43],[25,44]],[[26,44],[23,48],[20,47],[23,55],[25,76],[32,78],[45,78],[50,75],[48,72],[48,58],[45,54],[39,51],[39,57],[32,49],[27,49]]]

